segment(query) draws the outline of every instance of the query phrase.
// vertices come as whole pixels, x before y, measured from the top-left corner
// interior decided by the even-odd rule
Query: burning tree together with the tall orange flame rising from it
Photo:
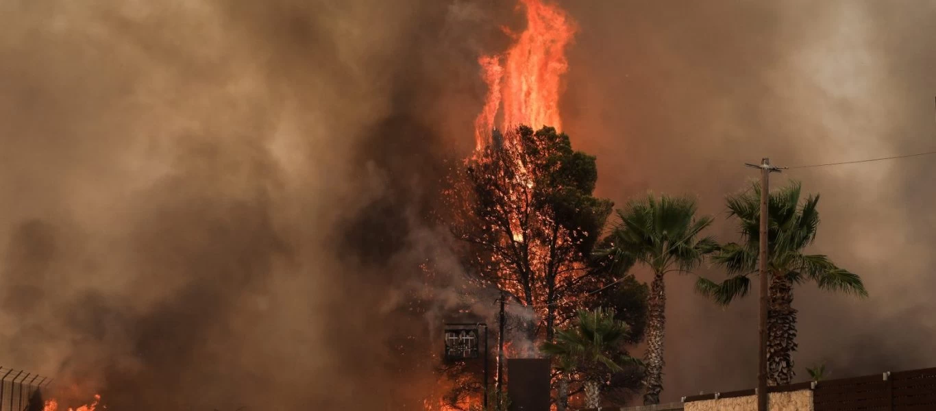
[[[519,6],[526,27],[512,33],[513,45],[478,59],[488,95],[475,119],[475,154],[446,192],[453,206],[446,213],[454,214],[447,217],[464,241],[464,265],[476,274],[477,286],[496,287],[510,297],[508,308],[523,311],[519,318],[501,319],[508,330],[499,338],[513,336],[507,355],[529,355],[537,343],[552,341],[554,330],[569,323],[577,308],[636,289],[617,292],[623,288],[609,284],[612,272],[596,270],[601,265],[590,261],[613,206],[592,196],[595,158],[574,151],[568,136],[553,127],[521,125],[562,125],[565,48],[576,24],[553,2],[519,0]],[[491,132],[495,124],[506,133]],[[603,286],[601,293],[588,292]],[[645,305],[643,295],[627,296]],[[639,379],[617,376],[607,385],[629,388]]]

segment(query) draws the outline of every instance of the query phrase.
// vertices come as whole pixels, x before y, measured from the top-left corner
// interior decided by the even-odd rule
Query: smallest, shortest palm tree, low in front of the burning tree
[[[540,345],[540,351],[557,361],[562,372],[559,379],[558,411],[568,406],[571,374],[589,374],[585,381],[586,406],[600,405],[600,379],[602,371],[611,373],[623,370],[622,363],[636,361],[622,355],[621,345],[627,341],[629,328],[614,318],[613,310],[601,307],[593,310],[578,310],[578,319],[568,329],[558,330],[555,342]]]

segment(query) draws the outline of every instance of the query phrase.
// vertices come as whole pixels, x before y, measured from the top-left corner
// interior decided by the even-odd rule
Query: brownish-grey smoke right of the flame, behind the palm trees
[[[698,197],[735,240],[724,195],[768,156],[779,166],[931,151],[936,142],[936,3],[898,1],[567,4],[581,27],[563,105],[578,147],[598,154],[599,192]],[[594,56],[601,55],[600,59]],[[936,237],[926,157],[791,169],[820,193],[812,251],[861,274],[870,298],[797,289],[797,379],[936,365]],[[724,278],[715,270],[710,278]],[[646,277],[645,277],[646,278]],[[756,382],[755,299],[726,310],[667,281],[664,401]]]

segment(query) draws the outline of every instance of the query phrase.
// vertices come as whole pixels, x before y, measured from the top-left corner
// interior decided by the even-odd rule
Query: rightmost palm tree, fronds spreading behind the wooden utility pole
[[[712,261],[728,272],[728,279],[716,284],[700,277],[696,290],[727,305],[747,295],[751,274],[756,273],[760,240],[760,185],[728,196],[728,214],[739,220],[741,243],[729,242],[718,248]],[[805,254],[819,227],[816,205],[819,196],[800,201],[801,185],[792,182],[769,196],[768,273],[768,382],[789,384],[796,374],[792,354],[797,350],[797,310],[793,308],[793,286],[813,282],[828,291],[841,291],[866,297],[861,278],[836,266],[824,255]]]

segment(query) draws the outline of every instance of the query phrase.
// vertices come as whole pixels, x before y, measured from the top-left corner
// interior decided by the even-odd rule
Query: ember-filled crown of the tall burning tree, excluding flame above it
[[[470,244],[469,266],[542,318],[526,321],[531,343],[551,341],[557,322],[574,314],[570,297],[599,281],[588,257],[613,203],[592,196],[595,157],[555,128],[520,125],[495,131],[462,171],[449,198],[461,212],[452,228]]]

